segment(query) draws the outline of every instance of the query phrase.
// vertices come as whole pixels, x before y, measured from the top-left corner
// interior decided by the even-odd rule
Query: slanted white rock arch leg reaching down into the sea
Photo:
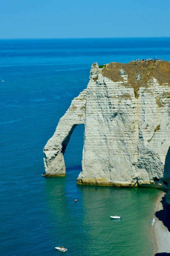
[[[65,176],[66,167],[63,154],[70,141],[70,136],[78,124],[85,123],[86,89],[71,102],[65,115],[59,120],[54,135],[44,147],[43,176]]]

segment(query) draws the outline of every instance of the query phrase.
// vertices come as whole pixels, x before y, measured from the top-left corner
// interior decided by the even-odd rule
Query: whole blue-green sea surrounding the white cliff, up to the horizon
[[[86,88],[91,64],[146,57],[170,60],[170,38],[0,40],[1,255],[59,256],[57,245],[68,256],[153,253],[160,191],[76,184],[83,125],[64,155],[66,177],[42,177],[43,147]]]

